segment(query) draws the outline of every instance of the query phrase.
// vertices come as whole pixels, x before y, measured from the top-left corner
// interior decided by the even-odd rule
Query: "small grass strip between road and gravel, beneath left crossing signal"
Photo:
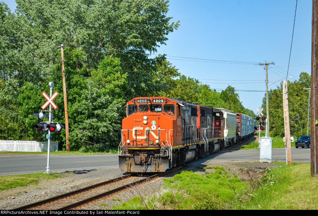
[[[11,188],[23,187],[28,185],[36,185],[40,178],[55,179],[59,177],[57,174],[49,175],[47,173],[30,173],[22,175],[4,175],[0,176],[0,191],[9,190]],[[24,192],[26,193],[26,192]]]

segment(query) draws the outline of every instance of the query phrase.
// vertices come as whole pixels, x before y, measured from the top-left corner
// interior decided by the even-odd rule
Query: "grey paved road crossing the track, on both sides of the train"
[[[259,149],[227,150],[208,157],[212,160],[258,162]],[[310,149],[292,147],[293,162],[310,163]],[[285,148],[272,149],[272,161],[286,161]],[[45,172],[47,155],[0,154],[0,175]],[[95,168],[119,168],[118,156],[105,155],[50,155],[50,171],[89,171]]]

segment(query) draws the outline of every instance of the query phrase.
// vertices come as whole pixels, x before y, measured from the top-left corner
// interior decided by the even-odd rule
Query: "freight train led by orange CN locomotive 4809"
[[[255,132],[256,121],[243,113],[180,98],[137,97],[125,107],[118,146],[122,172],[165,172]]]

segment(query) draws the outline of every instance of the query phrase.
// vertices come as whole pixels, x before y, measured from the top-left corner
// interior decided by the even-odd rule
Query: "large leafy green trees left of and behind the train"
[[[65,124],[61,49],[64,48],[69,140],[72,150],[105,151],[120,142],[124,104],[166,96],[244,111],[232,86],[217,92],[182,75],[165,55],[150,58],[179,22],[165,0],[16,0],[0,3],[0,139],[46,140],[32,116],[46,102],[48,83]],[[52,134],[65,147],[65,130]],[[60,145],[60,149],[61,146]]]

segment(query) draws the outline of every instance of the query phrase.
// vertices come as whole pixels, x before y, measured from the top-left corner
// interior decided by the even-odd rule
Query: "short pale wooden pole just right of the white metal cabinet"
[[[287,80],[283,80],[283,101],[284,101],[284,120],[285,120],[285,139],[287,151],[287,164],[292,165],[292,149],[290,143],[290,128],[289,128],[289,111],[288,111],[288,88]]]

